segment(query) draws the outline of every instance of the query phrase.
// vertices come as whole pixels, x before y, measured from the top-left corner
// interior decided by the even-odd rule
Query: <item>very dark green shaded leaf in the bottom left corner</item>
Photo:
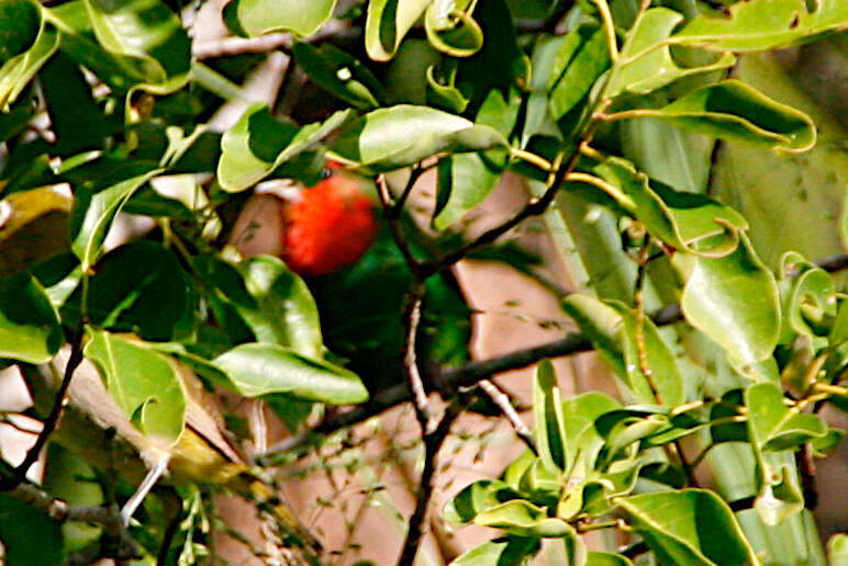
[[[59,522],[8,493],[0,494],[0,542],[9,566],[65,564]]]

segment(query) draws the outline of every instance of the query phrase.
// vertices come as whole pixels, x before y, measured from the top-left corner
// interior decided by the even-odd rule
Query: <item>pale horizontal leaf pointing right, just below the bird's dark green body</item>
[[[368,399],[368,390],[355,373],[277,344],[239,344],[213,363],[245,397],[284,392],[335,405]]]

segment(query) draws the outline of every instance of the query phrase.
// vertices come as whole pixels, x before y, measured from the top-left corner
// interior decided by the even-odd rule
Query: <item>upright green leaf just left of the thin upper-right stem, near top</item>
[[[548,88],[550,114],[559,121],[610,67],[606,35],[601,27],[583,25],[569,33],[559,48]]]

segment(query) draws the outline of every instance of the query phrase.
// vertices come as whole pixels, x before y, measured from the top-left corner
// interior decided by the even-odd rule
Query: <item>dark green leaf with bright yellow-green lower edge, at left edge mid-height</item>
[[[47,363],[63,341],[58,314],[35,278],[0,279],[0,358]]]

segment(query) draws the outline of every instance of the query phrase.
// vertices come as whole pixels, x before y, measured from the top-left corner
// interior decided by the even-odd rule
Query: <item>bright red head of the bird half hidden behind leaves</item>
[[[339,174],[302,191],[283,214],[282,259],[305,276],[325,275],[356,262],[379,228],[372,201],[355,180]]]

